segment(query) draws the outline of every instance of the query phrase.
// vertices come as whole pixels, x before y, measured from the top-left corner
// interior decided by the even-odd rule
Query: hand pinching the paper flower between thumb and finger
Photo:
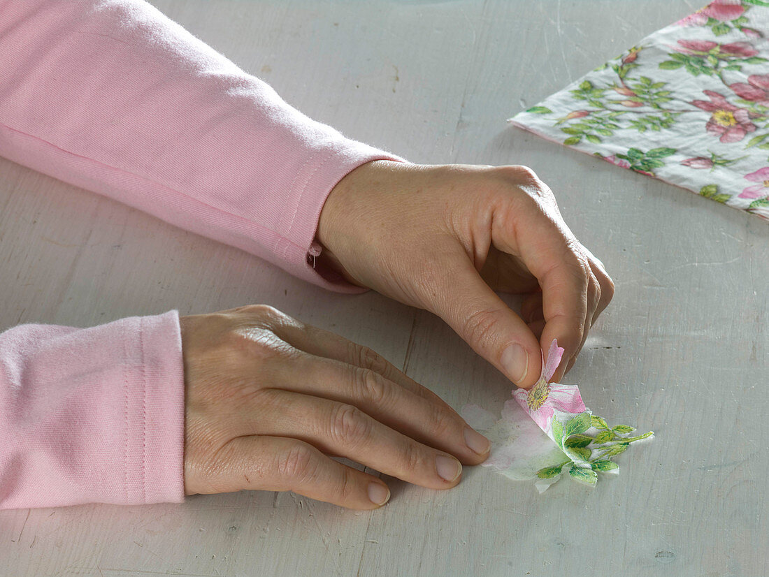
[[[364,164],[331,191],[318,240],[345,278],[437,314],[524,388],[553,339],[563,377],[614,293],[523,166]],[[494,290],[528,293],[522,318]]]

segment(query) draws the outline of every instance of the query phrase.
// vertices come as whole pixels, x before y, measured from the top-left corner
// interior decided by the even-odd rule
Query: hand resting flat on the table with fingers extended
[[[390,497],[342,456],[431,489],[488,439],[366,347],[254,305],[181,317],[185,493],[291,490],[351,509]]]

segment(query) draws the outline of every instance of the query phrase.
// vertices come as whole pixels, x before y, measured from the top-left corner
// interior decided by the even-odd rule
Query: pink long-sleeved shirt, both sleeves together
[[[291,108],[141,0],[0,0],[0,155],[305,280],[355,167],[401,160]],[[0,509],[184,499],[176,310],[0,334]]]

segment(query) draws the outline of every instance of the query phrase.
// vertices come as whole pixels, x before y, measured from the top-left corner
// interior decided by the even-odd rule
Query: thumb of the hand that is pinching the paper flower
[[[513,383],[528,389],[539,379],[542,351],[531,329],[463,258],[441,270],[425,308],[441,317],[485,360]]]

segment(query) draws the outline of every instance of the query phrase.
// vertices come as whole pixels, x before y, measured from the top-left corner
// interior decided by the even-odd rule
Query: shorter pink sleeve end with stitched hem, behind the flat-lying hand
[[[0,509],[184,499],[178,313],[0,334]]]

